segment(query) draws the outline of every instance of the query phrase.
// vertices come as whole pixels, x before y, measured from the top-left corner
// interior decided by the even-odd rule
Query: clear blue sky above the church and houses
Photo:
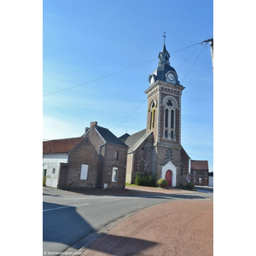
[[[117,137],[146,128],[144,91],[164,31],[185,87],[183,148],[213,171],[211,49],[197,44],[213,38],[212,1],[44,0],[43,138],[79,137],[91,121]]]

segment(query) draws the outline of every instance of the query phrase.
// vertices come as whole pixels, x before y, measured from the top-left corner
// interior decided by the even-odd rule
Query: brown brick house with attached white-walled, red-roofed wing
[[[58,189],[125,188],[127,146],[92,122],[82,137],[43,143],[43,177]]]

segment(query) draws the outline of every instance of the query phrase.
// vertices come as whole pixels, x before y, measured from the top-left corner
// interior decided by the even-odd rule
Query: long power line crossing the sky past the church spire
[[[202,43],[202,42],[201,42],[201,43]],[[185,47],[185,48],[183,48],[183,49],[188,49],[188,48],[190,48],[190,47],[193,47],[193,46],[195,46],[195,45],[197,45],[197,44],[201,44],[201,43],[192,44],[192,45],[189,45],[189,46],[187,46],[187,47]],[[183,49],[178,49],[178,50],[176,50],[176,51],[173,51],[171,54],[175,54],[175,53],[177,53],[178,51],[181,51],[181,50],[183,50]],[[122,72],[125,72],[125,71],[127,71],[127,70],[130,70],[130,69],[132,69],[132,68],[139,67],[139,66],[143,66],[144,64],[147,64],[147,63],[149,63],[149,62],[155,61],[155,60],[157,60],[157,59],[158,59],[158,58],[154,58],[153,60],[145,61],[145,62],[143,62],[143,63],[137,64],[137,65],[132,66],[132,67],[125,68],[125,69],[120,70],[120,71],[118,71],[118,72],[110,73],[110,74],[108,74],[108,75],[106,75],[106,76],[103,76],[103,77],[101,77],[101,78],[90,80],[90,81],[85,82],[85,83],[83,83],[83,84],[77,84],[77,85],[68,87],[68,88],[66,88],[66,89],[56,90],[55,92],[51,92],[51,93],[45,94],[44,96],[50,96],[50,95],[53,95],[53,94],[56,94],[56,93],[59,93],[59,92],[65,91],[65,90],[71,90],[71,89],[73,89],[73,88],[82,86],[82,85],[84,85],[84,84],[90,84],[90,83],[92,83],[92,82],[96,82],[96,81],[101,80],[101,79],[106,79],[106,78],[108,78],[108,77],[110,77],[110,76],[113,76],[113,75],[115,75],[115,74],[117,74],[117,73],[122,73]],[[44,96],[43,96],[43,97],[44,97]]]

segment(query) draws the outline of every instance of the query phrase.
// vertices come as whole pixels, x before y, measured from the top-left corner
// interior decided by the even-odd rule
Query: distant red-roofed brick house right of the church
[[[207,160],[190,160],[190,181],[195,185],[208,186],[209,168]]]

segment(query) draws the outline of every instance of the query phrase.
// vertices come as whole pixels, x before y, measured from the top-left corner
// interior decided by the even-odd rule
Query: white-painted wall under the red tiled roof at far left
[[[68,154],[44,154],[43,155],[43,169],[46,169],[46,183],[47,187],[57,188],[58,177],[60,171],[60,163],[67,163]],[[53,173],[55,168],[55,173]]]

